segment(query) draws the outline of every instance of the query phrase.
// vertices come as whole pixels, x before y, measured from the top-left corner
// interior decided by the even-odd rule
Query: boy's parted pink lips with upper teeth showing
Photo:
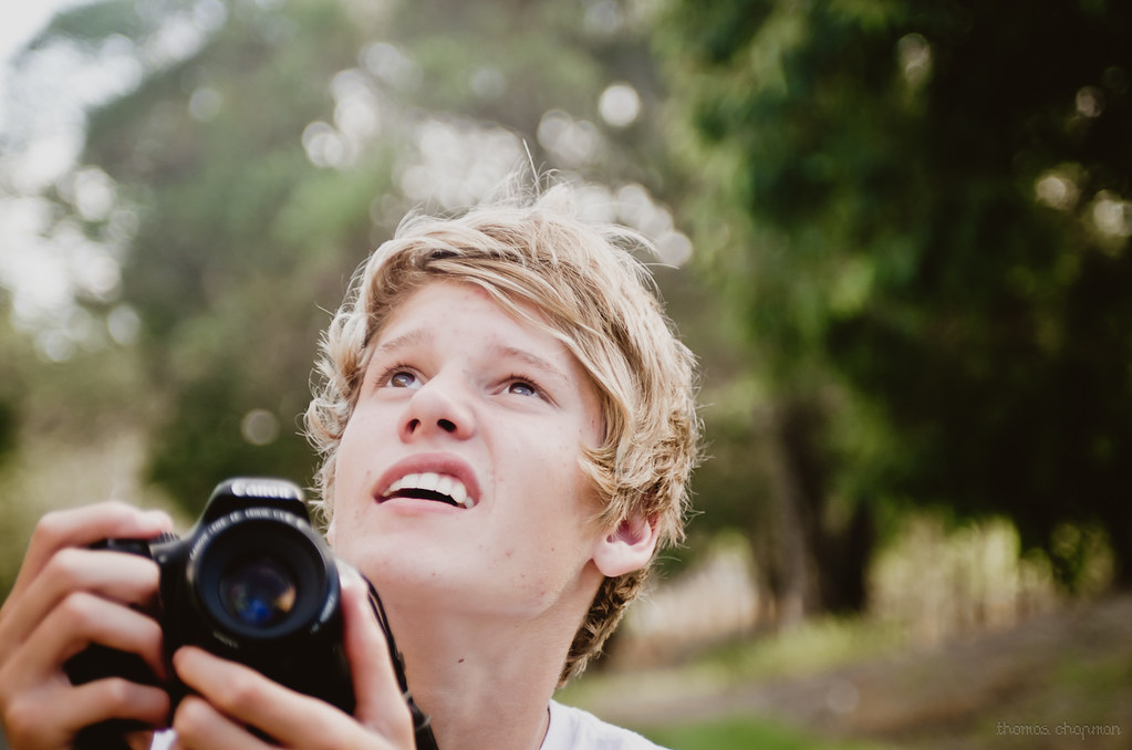
[[[479,484],[471,466],[448,454],[427,454],[397,462],[381,475],[376,490],[374,498],[378,503],[403,498],[470,510],[480,501]]]

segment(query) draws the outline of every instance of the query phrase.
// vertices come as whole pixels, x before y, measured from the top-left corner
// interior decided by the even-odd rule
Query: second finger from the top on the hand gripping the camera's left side
[[[122,604],[140,605],[157,590],[160,571],[152,560],[132,554],[65,549],[0,620],[0,662],[38,628],[71,593],[86,592]]]

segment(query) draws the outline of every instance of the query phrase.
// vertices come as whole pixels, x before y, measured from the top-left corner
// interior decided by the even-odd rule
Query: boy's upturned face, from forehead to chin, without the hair
[[[432,282],[375,343],[338,449],[335,550],[379,589],[441,609],[588,603],[602,533],[578,462],[601,430],[560,342],[481,290]]]

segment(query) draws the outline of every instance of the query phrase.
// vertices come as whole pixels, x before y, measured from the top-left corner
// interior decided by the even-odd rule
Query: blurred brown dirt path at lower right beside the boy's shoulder
[[[650,686],[603,700],[631,725],[745,714],[916,750],[1132,748],[1132,596],[1012,630],[726,690]]]

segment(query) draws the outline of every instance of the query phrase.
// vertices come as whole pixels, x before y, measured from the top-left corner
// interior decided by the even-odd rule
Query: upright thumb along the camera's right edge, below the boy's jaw
[[[408,747],[412,747],[412,716],[397,684],[388,643],[370,607],[369,587],[352,570],[342,576],[342,613],[358,721],[391,740],[408,739]]]

